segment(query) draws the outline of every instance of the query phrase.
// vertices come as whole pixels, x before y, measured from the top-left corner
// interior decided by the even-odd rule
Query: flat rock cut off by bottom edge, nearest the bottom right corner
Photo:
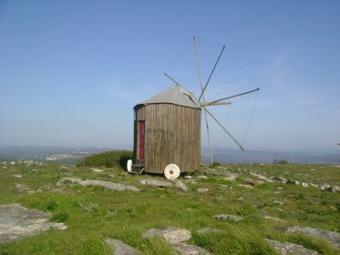
[[[304,248],[304,246],[295,244],[292,242],[281,242],[277,240],[267,240],[266,241],[275,248],[275,250],[282,255],[286,254],[299,254],[299,255],[317,255],[317,251],[309,250]]]

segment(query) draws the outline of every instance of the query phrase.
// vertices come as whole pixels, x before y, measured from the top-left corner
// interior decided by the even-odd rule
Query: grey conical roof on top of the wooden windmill
[[[180,87],[179,85],[170,87],[163,92],[160,92],[160,94],[139,103],[138,105],[149,104],[173,104],[181,107],[201,109],[200,103],[196,97],[189,90]]]

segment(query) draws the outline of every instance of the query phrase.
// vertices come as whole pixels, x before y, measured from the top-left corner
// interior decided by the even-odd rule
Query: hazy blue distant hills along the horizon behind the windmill
[[[76,164],[82,158],[112,150],[121,150],[121,148],[0,147],[0,160],[34,160]],[[272,163],[274,160],[286,160],[297,164],[340,165],[340,152],[329,154],[213,148],[213,161],[220,163]],[[204,163],[210,161],[208,148],[201,149],[201,161]]]

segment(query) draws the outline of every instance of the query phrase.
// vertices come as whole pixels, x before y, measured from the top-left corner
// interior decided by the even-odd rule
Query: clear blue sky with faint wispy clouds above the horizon
[[[0,145],[129,148],[163,73],[199,94],[196,36],[204,81],[226,46],[208,99],[261,88],[211,109],[246,149],[338,152],[339,26],[339,1],[0,0]]]

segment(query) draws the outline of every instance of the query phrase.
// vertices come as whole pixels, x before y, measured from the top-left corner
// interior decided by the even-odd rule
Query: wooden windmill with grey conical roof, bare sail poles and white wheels
[[[208,107],[229,105],[231,102],[226,100],[255,92],[259,88],[211,102],[206,101],[204,93],[209,86],[211,76],[220,61],[225,46],[222,47],[210,76],[203,86],[195,37],[193,42],[201,87],[200,97],[195,97],[191,91],[180,86],[180,83],[174,78],[164,74],[175,85],[133,107],[133,158],[129,159],[127,164],[130,173],[164,174],[167,179],[177,179],[180,173],[199,168],[201,164],[202,110],[207,127],[211,166],[213,161],[208,116],[244,150],[227,128],[211,114]]]

